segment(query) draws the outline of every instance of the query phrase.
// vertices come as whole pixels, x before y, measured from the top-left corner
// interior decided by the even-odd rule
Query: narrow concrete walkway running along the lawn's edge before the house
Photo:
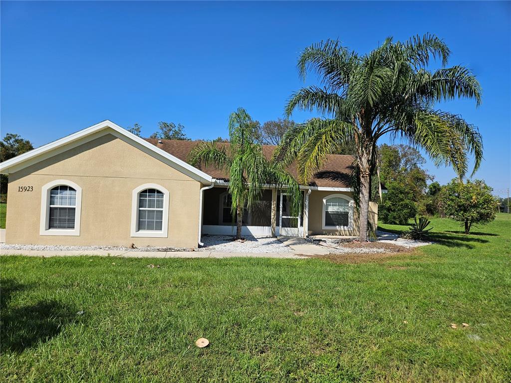
[[[61,256],[114,256],[122,258],[287,258],[308,259],[306,256],[294,253],[221,253],[213,251],[55,251],[55,250],[11,250],[0,249],[0,255],[26,255],[32,257],[61,257]]]

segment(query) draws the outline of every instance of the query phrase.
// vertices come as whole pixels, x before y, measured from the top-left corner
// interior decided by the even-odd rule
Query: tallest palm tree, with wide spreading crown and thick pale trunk
[[[449,54],[443,40],[425,35],[406,42],[387,38],[366,55],[327,40],[309,46],[298,59],[301,77],[312,70],[323,87],[293,93],[285,112],[289,117],[295,109],[316,110],[323,118],[290,129],[275,158],[284,164],[297,160],[300,178],[307,181],[328,154],[354,143],[361,242],[367,241],[377,142],[385,134],[423,148],[437,166],[452,165],[460,178],[468,170],[469,154],[475,158],[474,172],[481,163],[478,129],[459,115],[434,109],[435,103],[454,98],[481,102],[481,87],[470,70],[446,67]],[[442,67],[428,70],[431,58],[442,60]]]

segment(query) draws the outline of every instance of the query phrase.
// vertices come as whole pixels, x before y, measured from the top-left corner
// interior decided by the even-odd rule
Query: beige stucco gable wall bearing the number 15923
[[[39,235],[41,188],[65,179],[82,188],[79,236]],[[134,188],[169,190],[167,238],[131,237]],[[33,192],[18,192],[18,186]],[[9,174],[6,241],[10,244],[197,247],[200,182],[111,134]]]

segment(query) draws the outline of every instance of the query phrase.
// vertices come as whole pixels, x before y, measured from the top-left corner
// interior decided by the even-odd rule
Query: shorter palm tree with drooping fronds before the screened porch
[[[238,108],[229,116],[230,145],[216,141],[201,142],[190,152],[188,160],[194,166],[215,165],[229,174],[228,192],[233,200],[233,220],[237,217],[237,240],[241,239],[244,207],[254,206],[265,185],[286,190],[291,196],[292,211],[299,210],[302,200],[298,182],[281,164],[270,162],[263,155],[254,127],[245,109]]]

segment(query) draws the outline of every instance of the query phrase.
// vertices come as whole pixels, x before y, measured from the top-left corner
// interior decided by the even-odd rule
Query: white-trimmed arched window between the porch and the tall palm
[[[343,194],[323,198],[323,229],[352,229],[353,204],[353,199]]]

